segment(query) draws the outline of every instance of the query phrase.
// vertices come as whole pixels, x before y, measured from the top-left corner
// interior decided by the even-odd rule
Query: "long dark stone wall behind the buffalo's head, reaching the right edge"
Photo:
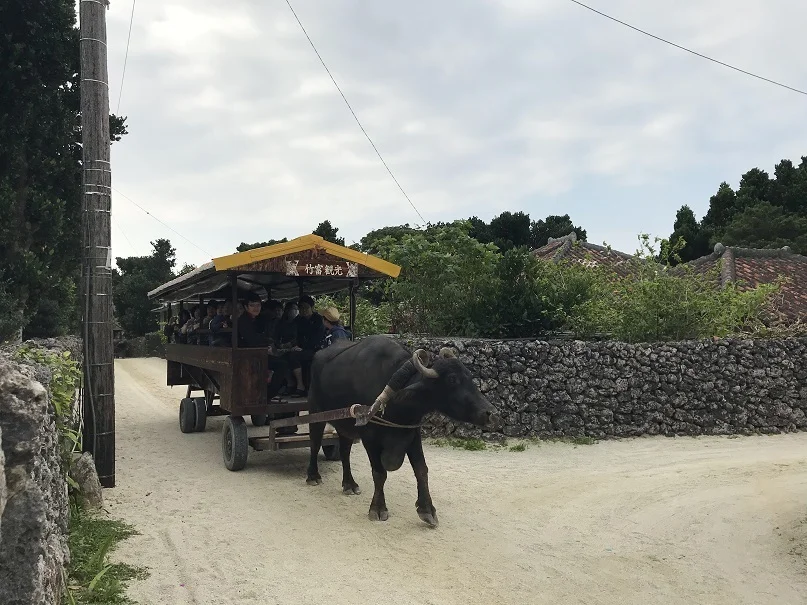
[[[483,432],[435,415],[432,436],[595,438],[807,429],[807,338],[629,345],[399,337],[451,346],[500,412]]]

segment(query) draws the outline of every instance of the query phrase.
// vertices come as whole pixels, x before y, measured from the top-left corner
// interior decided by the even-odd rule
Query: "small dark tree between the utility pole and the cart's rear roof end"
[[[142,336],[157,329],[148,293],[176,277],[176,250],[171,242],[158,239],[151,245],[149,256],[115,259],[118,269],[112,274],[112,302],[115,316],[129,336]]]

